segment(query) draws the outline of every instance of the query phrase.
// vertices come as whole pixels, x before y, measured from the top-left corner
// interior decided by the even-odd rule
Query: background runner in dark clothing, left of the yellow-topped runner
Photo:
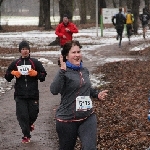
[[[121,41],[122,41],[122,33],[124,30],[124,24],[126,23],[126,17],[122,13],[122,8],[119,8],[119,13],[115,14],[112,17],[112,23],[116,28],[117,31],[117,37],[116,39],[119,39],[119,47],[121,47]]]

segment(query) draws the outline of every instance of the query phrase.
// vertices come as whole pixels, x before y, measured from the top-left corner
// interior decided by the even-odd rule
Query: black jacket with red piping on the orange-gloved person
[[[17,71],[17,66],[21,65],[31,65],[31,68],[37,71],[37,76],[31,77],[29,75],[21,75],[20,78],[16,78],[14,98],[39,100],[38,80],[40,80],[40,82],[45,81],[47,73],[42,66],[42,63],[37,59],[30,58],[29,56],[27,58],[20,57],[13,61],[6,71],[5,79],[8,82],[11,82],[14,78],[11,72],[13,70]]]

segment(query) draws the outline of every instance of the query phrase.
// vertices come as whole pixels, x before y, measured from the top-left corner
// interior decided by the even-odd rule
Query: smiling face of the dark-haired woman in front
[[[72,46],[66,59],[73,65],[80,66],[80,62],[82,60],[81,50],[79,46]]]

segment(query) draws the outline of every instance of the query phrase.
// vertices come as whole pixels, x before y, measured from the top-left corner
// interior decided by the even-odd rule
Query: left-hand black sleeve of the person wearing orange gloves
[[[11,72],[15,70],[15,61],[12,62],[7,70],[6,70],[6,73],[5,73],[5,79],[8,81],[8,82],[11,82],[11,80],[14,78],[14,76],[11,74]]]

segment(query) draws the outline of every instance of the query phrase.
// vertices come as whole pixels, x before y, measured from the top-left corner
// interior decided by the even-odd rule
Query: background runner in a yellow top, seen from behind
[[[133,31],[133,22],[134,22],[134,17],[133,14],[131,13],[131,10],[129,9],[126,14],[126,29],[127,29],[127,36],[129,41]]]

